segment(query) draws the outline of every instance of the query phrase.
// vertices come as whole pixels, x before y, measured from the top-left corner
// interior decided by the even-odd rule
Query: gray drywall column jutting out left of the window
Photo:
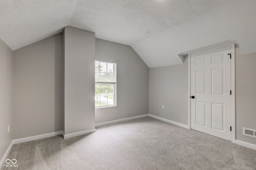
[[[95,33],[64,30],[64,138],[95,131]]]

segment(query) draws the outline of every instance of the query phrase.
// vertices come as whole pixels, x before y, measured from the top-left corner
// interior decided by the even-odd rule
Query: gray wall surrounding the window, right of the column
[[[95,109],[96,123],[148,114],[148,66],[128,45],[96,39],[97,60],[117,64],[116,107]]]

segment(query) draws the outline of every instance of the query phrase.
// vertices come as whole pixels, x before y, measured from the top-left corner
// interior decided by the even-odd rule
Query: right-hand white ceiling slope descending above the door
[[[181,63],[180,53],[232,43],[239,44],[242,54],[256,52],[255,0],[232,0],[132,47],[149,67],[156,67]]]

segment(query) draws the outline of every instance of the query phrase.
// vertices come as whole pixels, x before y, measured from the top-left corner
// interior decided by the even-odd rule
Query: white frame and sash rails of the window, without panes
[[[112,63],[114,64],[114,78],[116,80],[116,62],[112,62],[112,61],[102,61],[102,60],[95,60],[96,62],[102,62],[102,63]],[[116,106],[116,82],[96,82],[95,80],[95,85],[113,85],[114,89],[113,89],[113,105],[104,105],[104,106],[94,106],[95,109],[97,108],[104,108],[104,107],[115,107]],[[103,96],[102,94],[96,95],[94,94],[94,100],[96,99],[96,96]],[[108,100],[108,98],[107,98]],[[100,99],[99,99],[100,102]],[[107,102],[108,103],[108,102]]]

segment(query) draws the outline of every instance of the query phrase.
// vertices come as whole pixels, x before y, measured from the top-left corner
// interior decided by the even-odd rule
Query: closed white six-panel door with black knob
[[[230,52],[191,55],[191,129],[231,141]]]

